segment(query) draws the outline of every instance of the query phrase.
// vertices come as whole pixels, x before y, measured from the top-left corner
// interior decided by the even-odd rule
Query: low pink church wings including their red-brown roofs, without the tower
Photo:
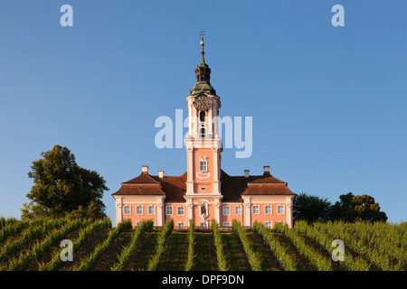
[[[225,174],[225,172],[221,173]],[[244,227],[251,227],[254,221],[260,221],[270,228],[278,222],[292,227],[292,203],[295,195],[288,193],[287,183],[280,182],[270,176],[268,172],[257,176],[221,178],[225,185],[241,185],[241,188],[237,191],[242,192],[235,195],[240,200],[225,201],[222,201],[223,198],[231,199],[235,197],[230,194],[230,188],[227,186],[225,186],[225,189],[228,190],[226,195],[214,195],[214,198],[211,198],[211,192],[204,193],[200,191],[191,196],[185,193],[182,194],[183,183],[184,191],[186,191],[185,174],[160,178],[159,176],[150,175],[147,170],[137,178],[122,183],[120,190],[113,194],[117,207],[116,223],[122,219],[131,219],[133,225],[137,226],[137,223],[142,220],[152,219],[156,227],[161,227],[164,226],[168,219],[174,219],[175,228],[188,228],[189,219],[194,219],[194,226],[211,228],[212,219],[215,219],[221,227],[232,226],[232,220],[236,219]],[[256,182],[270,183],[256,185]],[[173,200],[175,196],[172,194],[175,191],[166,190],[167,186],[175,187],[177,184],[180,187],[175,191],[179,190],[184,200]],[[152,187],[156,187],[157,190],[163,191],[163,193],[156,195],[137,194],[137,191],[143,191],[139,188],[154,191]],[[221,192],[222,187],[221,184]],[[255,190],[251,190],[253,187]],[[265,194],[259,194],[259,190]],[[256,193],[247,194],[247,192],[250,193],[251,191]],[[274,194],[275,191],[279,193],[283,191],[284,194]]]

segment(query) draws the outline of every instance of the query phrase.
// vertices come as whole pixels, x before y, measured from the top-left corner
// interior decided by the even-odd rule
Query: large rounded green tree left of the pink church
[[[51,151],[41,153],[34,161],[28,177],[33,187],[26,197],[22,219],[37,216],[102,218],[105,205],[103,191],[109,191],[98,172],[81,168],[67,147],[54,145]]]

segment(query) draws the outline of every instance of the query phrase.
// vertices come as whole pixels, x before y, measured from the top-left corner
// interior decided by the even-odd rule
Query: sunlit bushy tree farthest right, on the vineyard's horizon
[[[355,196],[352,192],[339,196],[340,201],[329,210],[329,219],[342,219],[348,222],[358,220],[365,221],[386,221],[387,216],[380,211],[380,206],[374,202],[374,198],[363,194]]]

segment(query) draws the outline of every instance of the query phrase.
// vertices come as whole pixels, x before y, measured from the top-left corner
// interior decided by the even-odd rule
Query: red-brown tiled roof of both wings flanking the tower
[[[186,172],[180,176],[149,175],[142,172],[137,178],[122,182],[121,188],[112,195],[166,195],[166,201],[185,201]],[[222,171],[222,201],[242,201],[242,195],[295,195],[287,182],[272,176],[270,172],[262,175],[230,176]]]

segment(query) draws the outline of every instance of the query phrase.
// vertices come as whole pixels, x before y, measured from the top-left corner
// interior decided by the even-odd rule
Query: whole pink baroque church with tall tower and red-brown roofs
[[[196,83],[187,96],[188,134],[185,136],[186,172],[157,175],[141,166],[141,173],[122,182],[112,194],[116,200],[116,224],[131,219],[133,226],[152,219],[162,227],[174,219],[175,228],[188,228],[189,219],[200,228],[211,228],[215,219],[220,227],[231,227],[232,220],[251,227],[260,221],[268,228],[276,223],[292,228],[295,193],[288,183],[263,166],[263,174],[251,175],[244,170],[232,176],[221,168],[222,138],[218,135],[221,98],[211,85],[211,69],[204,60],[204,33],[201,34],[201,62],[195,69]]]

